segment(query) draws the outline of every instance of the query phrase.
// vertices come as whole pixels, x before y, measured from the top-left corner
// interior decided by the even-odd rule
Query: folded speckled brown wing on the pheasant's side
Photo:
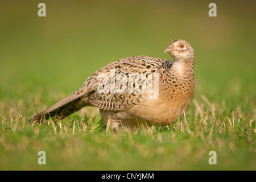
[[[159,67],[167,62],[170,61],[133,56],[106,65],[90,76],[84,84],[90,90],[89,103],[102,110],[112,111],[141,104],[148,98],[146,87],[142,86],[147,81],[147,74],[159,73]],[[104,80],[105,84],[102,84]],[[104,92],[102,89],[105,89]]]

